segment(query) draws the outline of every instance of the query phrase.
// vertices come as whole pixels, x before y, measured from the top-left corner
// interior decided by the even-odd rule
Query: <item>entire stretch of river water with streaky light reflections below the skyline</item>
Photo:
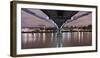
[[[92,32],[22,33],[22,49],[92,45]]]

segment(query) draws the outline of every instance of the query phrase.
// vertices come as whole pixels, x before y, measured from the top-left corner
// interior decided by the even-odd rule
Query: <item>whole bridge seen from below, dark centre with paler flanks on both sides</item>
[[[22,11],[32,16],[36,16],[40,20],[49,22],[49,25],[52,24],[57,29],[60,29],[63,26],[68,25],[70,22],[73,22],[80,17],[91,14],[91,12],[89,11],[79,12],[79,11],[71,11],[71,10],[48,10],[48,9],[31,9],[31,8],[22,8]],[[86,21],[86,19],[84,20]],[[45,23],[42,23],[42,24],[45,24]]]

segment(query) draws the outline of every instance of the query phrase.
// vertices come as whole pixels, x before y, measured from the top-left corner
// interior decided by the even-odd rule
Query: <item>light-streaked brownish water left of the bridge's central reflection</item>
[[[56,33],[22,33],[22,48],[56,47]]]

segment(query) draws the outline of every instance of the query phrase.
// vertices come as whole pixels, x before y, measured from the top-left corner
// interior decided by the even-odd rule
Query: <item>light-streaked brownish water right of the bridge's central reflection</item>
[[[63,47],[91,45],[92,32],[64,32]]]

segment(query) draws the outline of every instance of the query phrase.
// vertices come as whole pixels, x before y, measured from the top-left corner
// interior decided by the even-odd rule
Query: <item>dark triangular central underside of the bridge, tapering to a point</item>
[[[67,20],[71,19],[73,15],[78,11],[70,10],[42,10],[46,15],[49,16],[60,28]]]

